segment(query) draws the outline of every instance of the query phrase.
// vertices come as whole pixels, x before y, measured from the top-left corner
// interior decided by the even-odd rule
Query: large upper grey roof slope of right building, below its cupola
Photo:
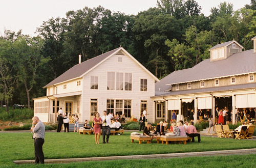
[[[212,62],[210,59],[204,60],[193,68],[187,69],[182,75],[169,78],[166,84],[184,83],[250,72],[256,72],[256,53],[253,53],[253,49],[233,54],[225,60]]]

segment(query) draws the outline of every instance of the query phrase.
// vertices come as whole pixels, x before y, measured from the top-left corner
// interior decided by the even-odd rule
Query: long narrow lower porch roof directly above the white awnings
[[[248,83],[243,85],[231,85],[231,86],[224,86],[224,87],[213,87],[213,88],[202,88],[202,89],[193,89],[193,90],[182,90],[182,91],[175,91],[169,92],[162,95],[156,95],[154,97],[159,96],[175,96],[175,95],[183,95],[183,94],[195,94],[195,93],[207,93],[207,92],[216,92],[216,91],[229,91],[229,90],[236,90],[236,89],[249,89],[249,88],[256,88],[256,83]]]

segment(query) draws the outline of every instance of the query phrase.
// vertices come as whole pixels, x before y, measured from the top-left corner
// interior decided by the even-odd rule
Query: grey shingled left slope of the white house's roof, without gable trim
[[[80,64],[77,64],[77,65],[73,66],[72,68],[67,70],[65,73],[61,74],[60,76],[58,76],[57,78],[52,80],[50,83],[48,83],[46,86],[44,86],[44,88],[52,86],[56,83],[60,83],[60,82],[66,81],[66,80],[70,80],[70,79],[79,77],[80,75],[89,71],[95,65],[97,65],[98,63],[103,61],[105,58],[109,57],[109,55],[113,54],[114,52],[116,52],[120,48],[121,47],[113,49],[109,52],[103,53],[101,55],[98,55],[97,57],[94,57],[90,60],[84,61]]]

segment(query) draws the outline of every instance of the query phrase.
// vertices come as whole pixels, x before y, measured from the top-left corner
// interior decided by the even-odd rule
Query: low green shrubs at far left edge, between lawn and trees
[[[0,120],[2,121],[23,121],[32,119],[34,116],[33,109],[23,108],[23,109],[9,109],[9,113],[6,113],[5,107],[0,107]]]

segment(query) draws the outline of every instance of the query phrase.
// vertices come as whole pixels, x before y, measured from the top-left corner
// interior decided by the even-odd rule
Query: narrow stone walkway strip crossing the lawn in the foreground
[[[174,157],[194,157],[194,156],[215,156],[215,155],[241,155],[256,154],[256,148],[224,150],[224,151],[206,151],[206,152],[186,152],[186,153],[167,153],[153,155],[131,155],[131,156],[108,156],[108,157],[87,157],[87,158],[67,158],[67,159],[46,159],[45,163],[69,163],[81,161],[102,161],[116,159],[157,159],[157,158],[174,158]],[[16,164],[34,163],[34,160],[14,160]]]

